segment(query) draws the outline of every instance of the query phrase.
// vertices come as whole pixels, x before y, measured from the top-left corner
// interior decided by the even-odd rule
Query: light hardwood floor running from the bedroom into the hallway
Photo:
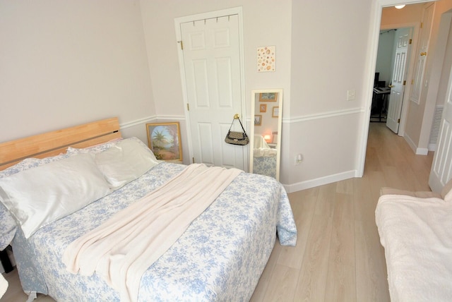
[[[297,246],[276,243],[251,301],[389,301],[374,216],[379,191],[429,191],[432,159],[415,155],[384,123],[371,123],[362,178],[289,194]],[[5,277],[10,286],[0,301],[25,301],[16,270]]]

